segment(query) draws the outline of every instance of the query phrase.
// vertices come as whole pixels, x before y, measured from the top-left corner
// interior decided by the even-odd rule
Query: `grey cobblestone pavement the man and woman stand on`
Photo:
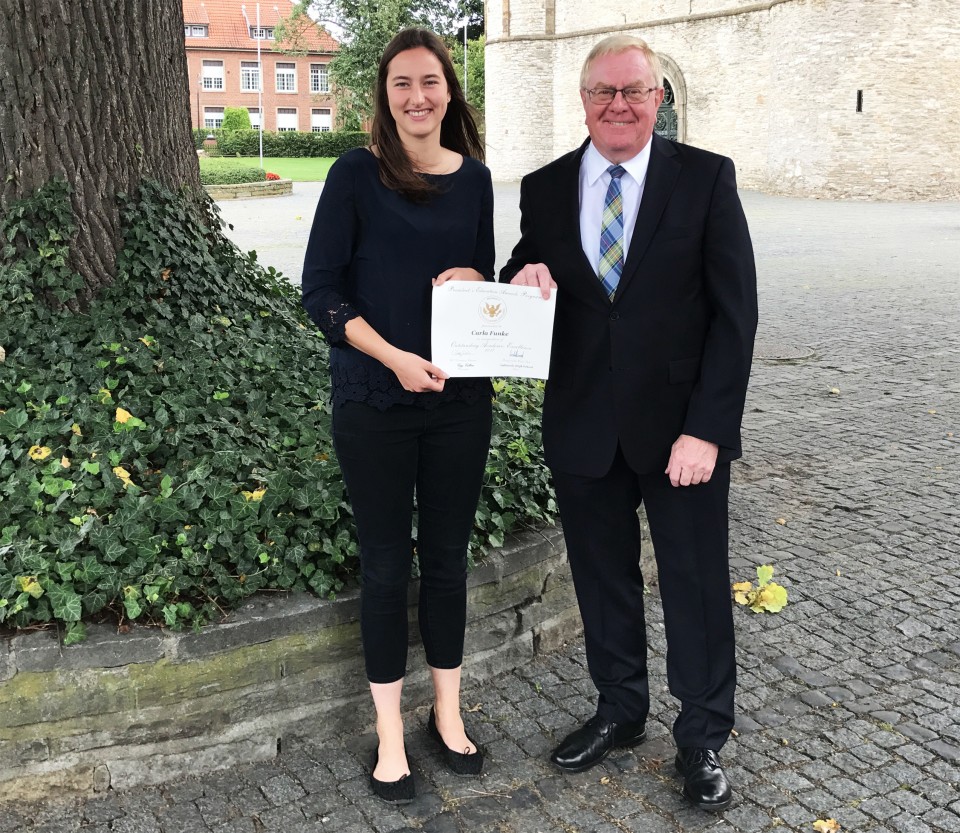
[[[516,186],[497,192],[515,206]],[[23,808],[0,816],[0,833],[758,833],[830,818],[844,831],[960,831],[960,206],[752,193],[744,203],[762,323],[735,465],[732,572],[755,578],[772,564],[790,604],[736,610],[729,810],[703,813],[679,794],[654,590],[650,739],[586,773],[546,761],[593,711],[571,643],[482,687],[467,677],[468,725],[489,752],[480,781],[446,773],[425,707],[411,712],[420,797],[403,809],[368,793],[368,723],[360,736],[285,742],[272,763]],[[228,211],[257,217],[258,234],[276,240],[288,232],[280,206]]]

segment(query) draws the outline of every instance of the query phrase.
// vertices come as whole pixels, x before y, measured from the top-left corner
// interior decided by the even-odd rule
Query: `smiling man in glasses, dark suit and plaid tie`
[[[653,134],[657,56],[607,38],[580,98],[590,138],[529,174],[500,279],[558,287],[543,442],[584,624],[597,713],[551,760],[579,772],[644,740],[647,683],[637,509],[646,505],[684,794],[731,800],[727,559],[730,461],[757,325],[756,271],[733,163]]]

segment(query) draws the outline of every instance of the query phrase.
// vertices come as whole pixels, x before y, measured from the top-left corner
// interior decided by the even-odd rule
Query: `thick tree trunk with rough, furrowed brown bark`
[[[89,300],[113,280],[117,194],[199,187],[181,0],[0,0],[0,214],[52,179]]]

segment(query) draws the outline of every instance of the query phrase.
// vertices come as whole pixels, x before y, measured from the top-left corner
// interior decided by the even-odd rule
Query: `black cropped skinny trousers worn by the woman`
[[[360,631],[372,683],[396,682],[406,673],[414,492],[427,662],[433,668],[463,662],[467,544],[491,420],[486,397],[433,409],[380,411],[361,402],[334,408],[334,447],[360,539]]]

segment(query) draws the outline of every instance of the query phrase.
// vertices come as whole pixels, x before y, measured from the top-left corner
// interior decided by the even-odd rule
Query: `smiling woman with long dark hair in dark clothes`
[[[443,42],[407,29],[387,46],[369,148],[330,169],[303,304],[330,342],[333,440],[360,542],[360,626],[379,746],[374,793],[414,797],[400,692],[407,659],[413,501],[419,625],[446,764],[479,775],[460,715],[467,544],[490,443],[490,382],[431,363],[432,287],[493,279],[493,187]]]

